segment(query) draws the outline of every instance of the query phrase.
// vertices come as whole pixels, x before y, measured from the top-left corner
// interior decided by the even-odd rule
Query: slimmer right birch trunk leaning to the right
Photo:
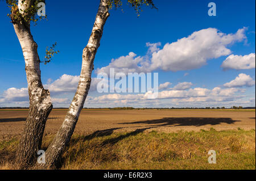
[[[77,120],[79,119],[80,112],[84,106],[90,88],[94,57],[100,46],[104,24],[109,16],[107,2],[108,0],[100,1],[92,33],[88,44],[82,52],[82,68],[76,94],[69,106],[69,110],[61,128],[46,150],[46,164],[40,165],[39,168],[41,169],[50,169],[56,166],[65,145],[68,144],[73,131],[75,130]]]

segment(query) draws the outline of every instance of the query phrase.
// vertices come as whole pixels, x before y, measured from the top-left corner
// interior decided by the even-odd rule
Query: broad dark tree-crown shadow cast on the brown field
[[[179,127],[179,126],[195,126],[201,127],[203,125],[217,125],[221,123],[234,124],[238,120],[232,120],[229,117],[164,117],[163,119],[135,121],[131,123],[118,124],[150,124],[160,127]]]

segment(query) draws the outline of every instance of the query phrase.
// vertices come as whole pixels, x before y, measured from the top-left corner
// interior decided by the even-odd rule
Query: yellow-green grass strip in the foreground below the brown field
[[[53,135],[43,140],[43,148]],[[14,155],[17,138],[0,141],[0,155]],[[216,164],[208,151],[216,151]],[[0,169],[11,157],[0,156]],[[255,169],[255,129],[200,132],[101,132],[73,135],[60,169]]]

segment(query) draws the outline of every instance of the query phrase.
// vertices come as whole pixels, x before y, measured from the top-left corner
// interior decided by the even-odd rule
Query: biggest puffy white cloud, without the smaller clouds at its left
[[[193,32],[192,35],[167,43],[162,50],[154,52],[151,69],[179,71],[200,68],[207,60],[230,54],[231,50],[227,45],[245,40],[245,30],[246,28],[242,28],[235,34],[228,35],[216,28]]]

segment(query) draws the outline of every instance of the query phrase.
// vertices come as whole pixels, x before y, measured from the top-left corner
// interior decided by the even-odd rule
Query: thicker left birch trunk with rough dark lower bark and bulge
[[[20,9],[26,9],[31,6],[31,2],[28,0],[22,4],[22,0],[19,0],[19,11]],[[13,13],[15,12],[13,11]],[[24,19],[19,21],[13,20],[13,26],[23,51],[30,99],[26,125],[18,150],[16,151],[16,163],[18,163],[20,169],[25,169],[33,165],[36,161],[37,151],[42,144],[46,120],[52,110],[52,102],[49,91],[43,88],[41,82],[40,60],[37,51],[38,45],[31,35],[30,23]]]

